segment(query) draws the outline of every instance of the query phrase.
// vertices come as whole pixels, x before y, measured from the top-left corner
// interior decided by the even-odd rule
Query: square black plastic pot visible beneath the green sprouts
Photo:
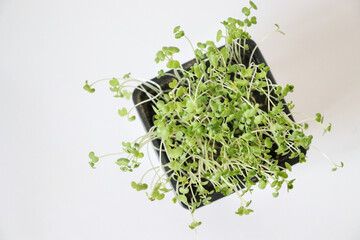
[[[255,48],[255,52],[254,52],[254,55],[253,55],[253,62],[255,64],[261,64],[261,63],[264,63],[265,66],[268,66],[265,62],[265,59],[263,57],[263,55],[261,54],[259,48],[256,47],[256,43],[251,40],[251,39],[248,39],[246,40],[246,43],[249,45],[249,51],[248,52],[252,52]],[[220,47],[219,49],[223,48],[224,46]],[[196,62],[195,59],[192,59],[186,63],[184,63],[182,65],[182,67],[185,69],[185,70],[189,70],[190,67]],[[173,74],[173,70],[170,70],[168,71],[167,73],[171,73]],[[275,82],[275,79],[273,77],[273,75],[271,74],[271,71],[269,71],[267,73],[267,78],[271,80],[271,82],[273,84],[276,84]],[[172,82],[173,78],[170,77],[170,76],[163,76],[161,78],[153,78],[150,80],[150,82],[155,82],[157,83],[158,85],[160,85],[160,87],[163,89],[163,90],[168,90],[170,89],[168,84],[170,82]],[[141,90],[139,90],[139,88],[144,88],[146,89],[147,91],[149,91],[150,93],[153,93],[151,89],[149,89],[147,86],[145,86],[144,84],[138,86],[135,91],[133,92],[133,101],[135,104],[138,104],[144,100],[147,100],[149,99],[148,96],[142,92]],[[290,114],[290,110],[289,108],[286,106],[285,104],[285,101],[283,101],[284,103],[284,112],[287,113],[287,114]],[[140,115],[140,118],[141,120],[143,121],[143,124],[145,126],[145,129],[146,131],[149,131],[149,129],[154,126],[154,123],[153,123],[153,119],[154,119],[154,116],[155,116],[155,112],[153,110],[153,102],[149,101],[149,102],[146,102],[146,103],[143,103],[139,106],[136,107],[139,115]],[[294,121],[294,118],[289,115],[290,119]],[[155,139],[152,141],[153,142],[153,145],[159,149],[160,148],[160,139]],[[302,152],[305,154],[306,153],[306,150],[305,149],[301,149]],[[162,151],[161,153],[159,153],[158,150],[156,150],[157,154],[159,157],[161,157],[161,162],[163,165],[169,163],[169,159],[167,157],[167,154],[165,151]],[[276,153],[274,152],[274,157],[276,155]],[[289,159],[288,156],[276,156],[276,159],[278,160],[278,164],[282,167],[285,166],[285,162],[288,162],[290,165],[294,165],[296,163],[299,162],[299,157],[296,157],[296,158],[293,158],[293,159]],[[170,169],[168,167],[164,167],[165,171],[169,171]],[[252,179],[254,182],[256,182],[256,178]],[[173,189],[176,189],[176,181],[174,179],[171,179],[170,181]],[[239,188],[243,188],[244,186],[239,186]],[[213,194],[209,195],[211,197],[211,202],[214,202],[222,197],[224,197],[223,194],[221,194],[220,192],[214,192]],[[188,207],[182,203],[182,206],[185,207],[186,209],[188,209]]]

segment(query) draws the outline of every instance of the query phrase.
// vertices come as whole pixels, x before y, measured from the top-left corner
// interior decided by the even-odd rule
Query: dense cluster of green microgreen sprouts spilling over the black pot
[[[269,78],[270,68],[254,60],[257,46],[250,47],[247,29],[257,24],[257,18],[252,16],[257,6],[252,1],[249,5],[242,8],[243,19],[228,18],[222,22],[225,29],[218,30],[215,36],[217,42],[225,42],[222,48],[213,41],[198,42],[194,47],[180,26],[175,27],[175,38],[185,38],[190,43],[196,62],[185,69],[175,58],[179,48],[168,46],[159,50],[155,62],[163,62],[173,70],[158,72],[158,78],[172,79],[166,88],[130,74],[97,81],[108,81],[116,98],[129,99],[128,88],[136,88],[148,97],[131,109],[118,110],[129,121],[135,120],[131,115],[135,107],[152,103],[153,126],[134,142],[123,142],[123,152],[118,153],[122,157],[115,163],[124,172],[133,171],[141,164],[144,146],[160,139],[156,150],[165,152],[169,161],[163,163],[160,159],[161,165],[154,166],[150,160],[152,167],[140,182],[131,182],[131,187],[147,191],[149,200],[155,201],[164,199],[171,191],[169,183],[175,182],[173,202],[190,210],[191,229],[201,224],[193,216],[195,209],[210,204],[216,193],[236,193],[240,206],[235,213],[241,216],[253,212],[251,200],[245,200],[245,195],[254,186],[272,188],[275,198],[283,185],[288,191],[293,189],[295,179],[289,177],[292,166],[284,159],[306,162],[305,152],[313,139],[305,134],[308,122],[318,123],[324,133],[331,130],[331,124],[325,126],[320,113],[314,118],[304,115],[304,121],[293,120],[287,109],[292,110],[295,105],[285,103],[284,98],[294,91],[294,86],[275,84]],[[275,32],[284,34],[279,25],[275,26]],[[93,93],[93,85],[86,81],[84,89]],[[91,167],[109,155],[96,156],[91,152]],[[343,167],[343,163],[334,163],[333,170],[338,167]],[[153,176],[145,183],[149,173]]]

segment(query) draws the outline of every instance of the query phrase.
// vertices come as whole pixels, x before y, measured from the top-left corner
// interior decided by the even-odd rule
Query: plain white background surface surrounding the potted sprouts
[[[87,154],[116,152],[145,133],[139,120],[117,115],[125,104],[108,85],[95,94],[85,80],[156,75],[155,53],[182,48],[181,25],[194,43],[214,40],[220,22],[241,17],[246,1],[0,0],[0,239],[195,239],[190,214],[171,202],[150,202],[130,188],[134,174],[104,159],[96,170]],[[321,112],[333,131],[308,131],[316,150],[293,167],[293,191],[273,199],[252,194],[250,216],[234,214],[235,195],[199,209],[200,239],[360,239],[359,0],[256,1],[255,41],[279,84],[295,85],[294,111]],[[302,117],[294,115],[297,120]],[[152,153],[152,156],[155,155]]]

